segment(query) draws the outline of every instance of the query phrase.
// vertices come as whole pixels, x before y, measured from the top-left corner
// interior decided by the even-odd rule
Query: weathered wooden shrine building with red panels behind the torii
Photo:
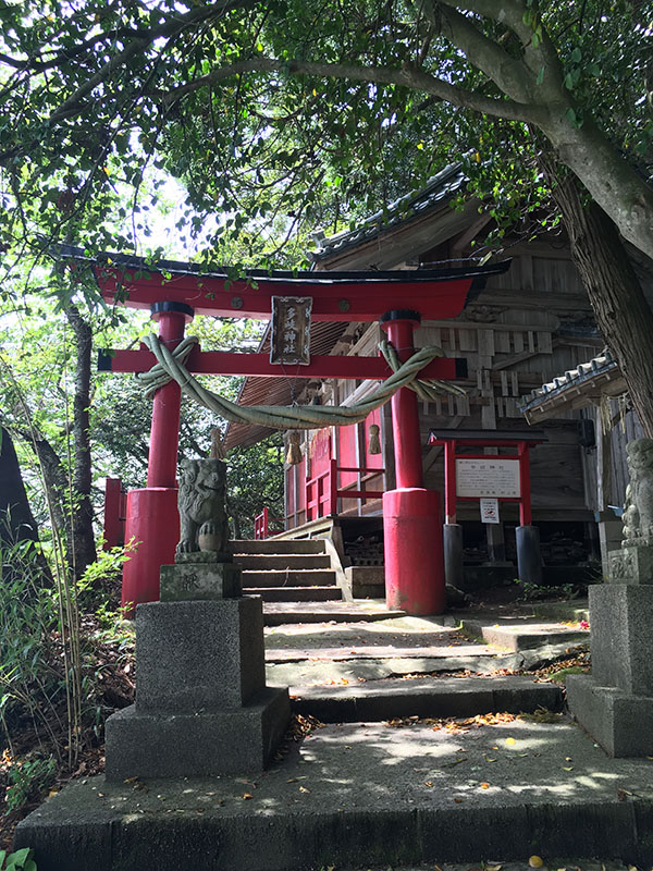
[[[331,238],[316,236],[311,255],[317,274],[331,270],[421,270],[473,262],[485,253],[482,241],[492,226],[489,210],[473,197],[461,209],[453,201],[464,192],[465,175],[449,167],[434,176],[419,194],[391,205],[384,214],[373,216],[353,232]],[[443,395],[434,402],[419,402],[421,463],[424,486],[444,494],[443,444],[429,445],[433,430],[486,431],[528,429],[520,410],[521,397],[572,369],[579,360],[593,357],[603,347],[581,280],[570,259],[563,231],[526,241],[518,231],[504,240],[502,256],[512,258],[510,268],[490,275],[482,290],[470,294],[465,308],[454,318],[423,318],[415,330],[417,347],[436,344],[447,357],[465,358],[468,378],[455,383],[464,395]],[[490,261],[492,262],[492,260]],[[334,329],[335,328],[335,329]],[[316,324],[316,352],[352,358],[370,355],[381,338],[377,322],[350,318],[348,323]],[[269,340],[263,341],[263,346]],[[371,390],[366,380],[312,379],[301,385],[292,379],[274,384],[248,378],[239,402],[269,401],[286,404],[291,395],[299,402],[342,404]],[[532,522],[542,533],[544,564],[586,562],[597,555],[593,505],[588,499],[580,413],[565,409],[538,429],[543,443],[530,452]],[[369,427],[379,426],[381,454],[369,452]],[[231,425],[227,446],[251,444],[266,434],[263,428]],[[379,494],[395,486],[393,431],[390,406],[379,409],[365,424],[305,434],[303,461],[286,467],[286,535],[301,535],[320,514],[332,514],[346,526],[353,552],[361,537],[370,548],[381,529],[382,502]],[[505,453],[488,449],[486,453]],[[340,469],[340,471],[338,471]],[[336,476],[336,480],[333,480]],[[348,498],[347,491],[372,491],[370,498]],[[326,493],[328,498],[324,496]],[[321,501],[320,501],[321,500]],[[515,577],[515,527],[518,506],[501,505],[500,523],[483,524],[478,503],[460,501],[457,519],[464,529],[467,572],[475,566],[503,566]],[[315,528],[315,527],[313,527]],[[374,537],[374,530],[377,535]],[[370,550],[371,553],[371,550]]]

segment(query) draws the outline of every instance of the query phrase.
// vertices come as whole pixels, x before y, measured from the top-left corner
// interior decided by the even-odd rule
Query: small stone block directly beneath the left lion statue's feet
[[[233,563],[184,562],[161,566],[161,601],[234,599],[243,593],[241,569]]]

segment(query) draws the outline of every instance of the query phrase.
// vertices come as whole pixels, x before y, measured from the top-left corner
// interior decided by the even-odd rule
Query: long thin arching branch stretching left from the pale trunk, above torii
[[[458,85],[452,85],[443,78],[438,78],[430,73],[415,66],[404,66],[392,70],[384,66],[357,66],[350,63],[320,63],[316,61],[279,61],[273,58],[252,58],[236,61],[227,66],[220,66],[207,75],[199,76],[193,82],[168,91],[158,91],[165,103],[174,102],[186,94],[210,87],[218,82],[239,73],[288,73],[291,75],[315,75],[330,78],[349,78],[355,82],[371,82],[377,84],[398,85],[412,90],[422,90],[432,94],[454,106],[472,109],[476,112],[505,118],[510,121],[530,121],[537,124],[541,120],[539,107],[520,103],[516,100],[500,100],[484,97],[466,90]]]

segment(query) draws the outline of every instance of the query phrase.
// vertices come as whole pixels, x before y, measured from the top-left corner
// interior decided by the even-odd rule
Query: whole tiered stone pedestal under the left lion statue
[[[136,703],[107,721],[109,781],[266,766],[289,700],[266,686],[261,600],[222,598],[239,590],[229,563],[163,567],[162,598],[172,601],[136,610]]]

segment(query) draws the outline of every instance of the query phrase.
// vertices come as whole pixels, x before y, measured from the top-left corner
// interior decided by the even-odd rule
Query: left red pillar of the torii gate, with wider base
[[[152,305],[159,339],[170,351],[183,340],[193,315],[185,303]],[[180,540],[176,465],[181,407],[182,391],[176,381],[169,381],[155,393],[147,487],[127,493],[125,542],[136,544],[123,568],[122,606],[130,610],[140,602],[158,601],[159,568],[174,563]]]

